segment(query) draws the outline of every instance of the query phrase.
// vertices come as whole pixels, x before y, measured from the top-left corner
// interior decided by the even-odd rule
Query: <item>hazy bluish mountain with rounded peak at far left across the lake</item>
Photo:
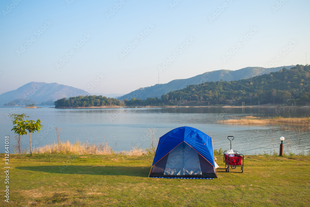
[[[79,95],[86,96],[91,94],[82,89],[58,83],[30,82],[16,90],[2,93],[0,95],[0,106],[14,101],[24,100],[24,102],[26,102],[26,100],[28,100],[32,103],[41,103],[49,100],[56,101],[64,97],[75,97]]]

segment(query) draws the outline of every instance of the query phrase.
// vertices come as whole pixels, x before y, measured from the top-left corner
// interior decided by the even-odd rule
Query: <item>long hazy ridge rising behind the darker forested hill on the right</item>
[[[240,70],[214,70],[206,72],[204,74],[196,75],[188,79],[176,79],[165,84],[156,84],[154,86],[140,88],[132,91],[126,95],[123,95],[118,100],[130,100],[135,97],[137,99],[146,99],[148,97],[161,97],[162,94],[166,94],[170,91],[186,88],[187,85],[204,83],[206,81],[231,81],[252,78],[257,75],[268,74],[270,72],[276,72],[281,70],[283,67],[290,69],[292,66],[282,66],[276,68],[263,68],[263,67],[246,67]]]

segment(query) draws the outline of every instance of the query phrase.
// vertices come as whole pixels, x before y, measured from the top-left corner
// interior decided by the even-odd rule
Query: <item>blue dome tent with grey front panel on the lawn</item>
[[[212,138],[192,127],[179,127],[159,138],[149,177],[217,178]]]

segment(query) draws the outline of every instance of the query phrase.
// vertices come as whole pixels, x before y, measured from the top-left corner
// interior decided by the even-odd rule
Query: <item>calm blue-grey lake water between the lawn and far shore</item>
[[[15,134],[9,113],[26,113],[31,120],[40,119],[44,127],[40,133],[33,133],[32,147],[57,142],[55,126],[61,128],[60,140],[66,142],[99,143],[107,141],[114,151],[131,150],[133,146],[149,146],[148,128],[155,128],[158,139],[170,130],[189,126],[197,128],[213,138],[214,149],[230,148],[227,136],[234,136],[232,149],[239,153],[279,153],[280,137],[285,137],[284,152],[299,153],[310,150],[310,132],[276,126],[242,126],[219,124],[217,121],[234,117],[259,116],[303,117],[309,116],[310,109],[285,109],[277,114],[272,108],[116,108],[116,109],[55,109],[43,106],[36,109],[0,107],[0,142],[4,152],[4,136],[10,136],[13,152]],[[22,148],[29,148],[29,135],[22,137]]]

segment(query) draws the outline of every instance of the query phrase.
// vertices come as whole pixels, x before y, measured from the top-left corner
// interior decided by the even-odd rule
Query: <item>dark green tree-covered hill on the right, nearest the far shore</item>
[[[290,70],[283,68],[278,72],[263,74],[249,79],[237,81],[205,82],[188,85],[186,88],[171,91],[162,95],[161,99],[125,100],[126,105],[177,105],[188,101],[200,101],[202,105],[259,105],[305,104],[310,102],[310,66],[296,65]],[[202,102],[201,102],[202,101]]]

